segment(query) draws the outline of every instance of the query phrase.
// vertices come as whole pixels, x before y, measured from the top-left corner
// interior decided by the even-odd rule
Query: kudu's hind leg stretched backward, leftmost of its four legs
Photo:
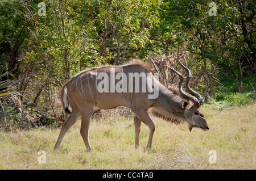
[[[76,123],[77,120],[81,117],[80,112],[77,111],[75,108],[73,108],[71,115],[69,115],[67,121],[65,121],[64,125],[61,127],[60,135],[56,141],[56,144],[54,146],[53,150],[59,149],[61,141],[63,140],[63,137],[68,132],[69,128],[72,127]]]

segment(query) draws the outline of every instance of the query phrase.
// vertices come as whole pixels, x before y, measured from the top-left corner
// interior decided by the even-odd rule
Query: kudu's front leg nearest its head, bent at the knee
[[[139,119],[142,120],[142,122],[144,124],[146,124],[148,126],[148,128],[150,129],[150,135],[148,137],[148,142],[147,142],[147,149],[151,149],[151,145],[152,145],[152,139],[153,139],[153,134],[155,132],[155,124],[153,123],[153,121],[150,119],[150,117],[148,116],[147,110],[144,108],[141,108],[139,110],[132,110],[138,117]]]

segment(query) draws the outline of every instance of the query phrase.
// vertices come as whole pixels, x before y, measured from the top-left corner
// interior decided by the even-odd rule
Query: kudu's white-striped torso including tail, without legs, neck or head
[[[67,98],[76,107],[85,103],[93,103],[100,109],[118,106],[149,107],[158,97],[159,88],[158,79],[151,71],[151,68],[139,61],[82,71],[61,90],[64,110],[70,112]]]

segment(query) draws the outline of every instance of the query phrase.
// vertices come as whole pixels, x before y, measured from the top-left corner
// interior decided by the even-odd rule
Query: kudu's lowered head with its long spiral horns
[[[187,120],[189,123],[189,131],[191,131],[193,127],[207,131],[209,127],[203,113],[200,110],[200,106],[203,105],[203,96],[201,96],[198,92],[193,91],[191,87],[189,87],[189,80],[192,77],[191,71],[183,64],[180,63],[180,65],[188,72],[185,86],[189,94],[186,94],[182,89],[182,83],[184,79],[183,75],[181,75],[179,71],[176,71],[173,68],[170,69],[174,71],[174,73],[178,74],[180,77],[179,92],[180,95],[184,98],[181,102],[181,108],[184,111],[184,119]]]

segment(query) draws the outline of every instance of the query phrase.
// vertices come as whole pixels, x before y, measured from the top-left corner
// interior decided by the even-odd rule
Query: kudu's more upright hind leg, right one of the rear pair
[[[94,104],[88,104],[86,107],[83,107],[84,111],[81,111],[82,121],[81,121],[80,134],[82,136],[82,139],[84,140],[85,146],[88,149],[88,151],[92,151],[92,148],[90,148],[90,142],[89,142],[89,126],[90,126],[90,118],[92,117],[92,113],[93,113],[93,106]]]

